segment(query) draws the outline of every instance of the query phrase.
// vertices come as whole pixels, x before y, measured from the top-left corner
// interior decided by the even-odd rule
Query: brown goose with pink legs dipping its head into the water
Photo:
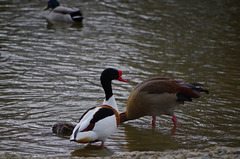
[[[156,116],[170,115],[177,127],[177,118],[173,111],[184,101],[199,98],[202,92],[209,93],[201,88],[200,83],[187,83],[170,78],[152,78],[138,84],[131,92],[126,111],[120,114],[120,122],[138,119],[143,116],[152,116],[152,126],[155,127]]]

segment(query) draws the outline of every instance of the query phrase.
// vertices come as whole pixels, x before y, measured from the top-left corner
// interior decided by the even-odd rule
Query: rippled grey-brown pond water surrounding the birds
[[[109,156],[239,146],[240,3],[208,1],[60,1],[80,8],[79,25],[52,25],[45,1],[1,1],[0,150],[26,156]],[[129,121],[100,149],[51,132],[75,124],[104,98],[103,69],[123,71],[114,81],[120,111],[139,82],[156,76],[201,82],[210,94],[168,116]]]

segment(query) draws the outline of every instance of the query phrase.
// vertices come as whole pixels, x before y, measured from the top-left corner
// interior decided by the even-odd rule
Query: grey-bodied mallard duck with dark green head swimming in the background
[[[49,0],[44,10],[50,9],[51,11],[46,16],[47,20],[54,22],[82,22],[83,16],[79,9],[68,8],[60,6],[57,0]]]

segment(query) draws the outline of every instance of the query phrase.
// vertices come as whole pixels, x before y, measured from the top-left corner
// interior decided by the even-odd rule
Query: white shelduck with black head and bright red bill
[[[105,69],[102,72],[100,79],[106,98],[102,105],[88,109],[81,116],[72,132],[70,141],[79,143],[101,141],[101,147],[104,147],[104,142],[115,132],[120,122],[111,81],[116,79],[126,82],[121,76],[122,71],[113,68]]]

